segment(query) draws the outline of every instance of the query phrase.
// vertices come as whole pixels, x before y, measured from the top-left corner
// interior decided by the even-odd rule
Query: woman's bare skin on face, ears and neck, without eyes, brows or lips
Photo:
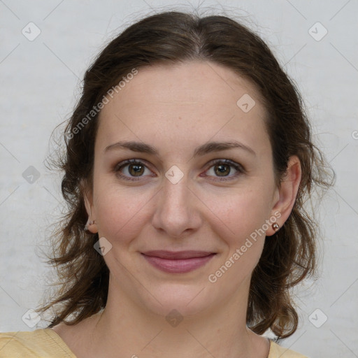
[[[256,102],[248,113],[236,105],[243,94]],[[265,116],[252,83],[224,66],[196,61],[139,69],[101,110],[85,205],[95,220],[90,231],[112,245],[103,256],[108,303],[102,315],[54,328],[78,358],[268,356],[268,340],[246,327],[245,315],[252,271],[270,240],[265,236],[274,234],[271,224],[216,282],[208,280],[275,213],[281,227],[294,205],[299,159],[289,159],[277,187]],[[229,140],[255,155],[233,148],[193,157],[199,145]],[[148,143],[159,154],[105,152],[118,141]],[[126,159],[145,165],[139,178],[130,165],[120,171],[138,181],[114,171]],[[234,167],[224,166],[229,180],[220,181],[213,159],[231,159],[244,171],[235,176]],[[165,176],[173,165],[184,175],[176,184]],[[216,255],[194,271],[174,274],[148,264],[141,255],[147,250]],[[176,327],[165,319],[173,309],[183,318]]]

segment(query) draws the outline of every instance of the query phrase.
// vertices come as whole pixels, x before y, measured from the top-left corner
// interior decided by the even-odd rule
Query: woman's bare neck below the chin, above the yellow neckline
[[[247,282],[250,284],[250,282]],[[248,296],[192,315],[158,315],[127,298],[110,282],[103,312],[90,326],[90,357],[267,357],[268,340],[246,327]],[[170,310],[169,310],[170,311]],[[87,356],[88,357],[88,356]]]

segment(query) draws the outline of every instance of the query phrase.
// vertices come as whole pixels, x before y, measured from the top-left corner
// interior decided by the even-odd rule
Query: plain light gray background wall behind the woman
[[[38,257],[63,202],[59,175],[44,166],[55,148],[52,130],[71,114],[80,79],[110,38],[143,15],[198,6],[171,4],[0,0],[0,331],[45,327],[30,329],[22,316],[38,305],[52,273]],[[312,358],[358,357],[357,1],[201,1],[201,9],[243,16],[259,31],[298,84],[315,141],[337,175],[317,212],[321,276],[299,287],[299,329],[281,345]],[[34,41],[22,34],[29,22],[41,29]],[[328,31],[320,41],[308,32],[316,22]],[[324,29],[311,31],[320,37]],[[29,166],[40,173],[32,184],[22,176]]]

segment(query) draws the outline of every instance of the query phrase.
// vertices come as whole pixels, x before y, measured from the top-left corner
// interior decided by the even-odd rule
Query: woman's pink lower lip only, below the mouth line
[[[169,273],[185,273],[193,271],[206,264],[215,254],[211,254],[205,257],[193,257],[192,259],[162,259],[161,257],[147,256],[142,254],[145,259],[159,268],[159,270]]]

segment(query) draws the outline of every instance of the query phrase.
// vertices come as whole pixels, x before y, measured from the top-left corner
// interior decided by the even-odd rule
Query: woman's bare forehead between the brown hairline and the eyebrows
[[[103,107],[96,143],[139,139],[180,150],[234,139],[265,146],[265,115],[255,85],[227,67],[197,61],[151,66],[128,77]]]

